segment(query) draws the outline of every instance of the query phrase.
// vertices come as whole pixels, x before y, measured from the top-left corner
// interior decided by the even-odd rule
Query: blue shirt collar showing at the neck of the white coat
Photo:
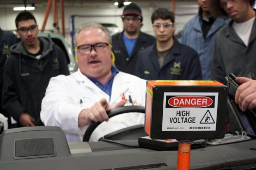
[[[115,67],[112,66],[111,67],[111,76],[109,78],[109,80],[106,82],[105,85],[103,85],[101,82],[99,82],[98,80],[91,78],[89,76],[87,76],[88,79],[90,79],[96,86],[98,86],[102,91],[104,91],[105,93],[109,94],[109,96],[111,97],[111,92],[112,92],[112,84],[113,84],[113,80],[114,77],[116,76],[116,74],[118,74],[119,70]]]

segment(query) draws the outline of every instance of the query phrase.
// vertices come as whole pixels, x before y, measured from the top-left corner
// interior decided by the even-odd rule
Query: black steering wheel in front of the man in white
[[[115,109],[112,109],[110,111],[107,111],[109,118],[122,114],[122,113],[131,113],[131,112],[137,112],[137,113],[145,113],[145,107],[144,106],[123,106],[118,107]],[[92,122],[86,132],[83,135],[82,141],[89,141],[93,131],[101,124],[102,122]]]

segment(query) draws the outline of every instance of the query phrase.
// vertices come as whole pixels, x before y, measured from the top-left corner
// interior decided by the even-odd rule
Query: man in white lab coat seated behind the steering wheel
[[[124,105],[145,106],[146,81],[119,71],[112,64],[111,35],[97,23],[86,23],[75,36],[78,71],[50,80],[42,100],[41,120],[59,126],[68,141],[82,141],[91,122],[103,122],[90,141],[116,130],[144,124],[144,114],[120,114],[109,119],[106,111]],[[126,99],[132,99],[132,103]]]

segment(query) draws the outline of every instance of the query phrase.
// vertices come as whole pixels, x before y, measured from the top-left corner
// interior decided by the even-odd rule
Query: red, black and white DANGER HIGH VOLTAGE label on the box
[[[218,93],[165,92],[162,131],[215,131]]]

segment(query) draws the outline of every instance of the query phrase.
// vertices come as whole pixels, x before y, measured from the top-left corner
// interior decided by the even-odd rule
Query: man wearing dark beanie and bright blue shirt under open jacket
[[[137,4],[125,6],[121,18],[124,30],[112,36],[115,65],[120,71],[134,74],[139,53],[153,44],[155,37],[140,31],[143,16]]]

